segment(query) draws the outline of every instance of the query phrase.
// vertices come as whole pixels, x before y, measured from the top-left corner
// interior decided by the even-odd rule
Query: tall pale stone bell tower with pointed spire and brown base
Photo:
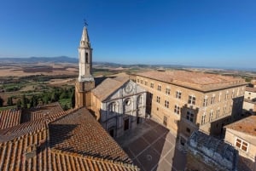
[[[87,27],[84,26],[79,44],[79,77],[75,84],[76,107],[86,106],[90,108],[90,90],[95,88],[94,77],[91,74],[92,48]]]

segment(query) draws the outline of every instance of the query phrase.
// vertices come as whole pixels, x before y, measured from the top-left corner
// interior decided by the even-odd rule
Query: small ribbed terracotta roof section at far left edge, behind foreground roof
[[[20,109],[9,109],[0,111],[0,129],[10,128],[20,124]]]

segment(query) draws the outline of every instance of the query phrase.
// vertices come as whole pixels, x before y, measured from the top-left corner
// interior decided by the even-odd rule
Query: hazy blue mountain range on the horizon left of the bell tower
[[[79,63],[78,59],[70,58],[67,56],[57,57],[29,57],[29,58],[0,58],[2,64],[9,63],[38,63],[38,62],[50,62],[50,63]]]

